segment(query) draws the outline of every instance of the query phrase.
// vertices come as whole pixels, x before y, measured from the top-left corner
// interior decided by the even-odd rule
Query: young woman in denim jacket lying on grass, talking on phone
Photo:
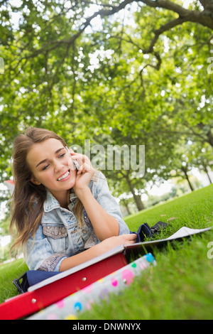
[[[66,147],[60,136],[38,128],[13,143],[13,247],[23,248],[29,269],[64,271],[136,242],[104,175]]]

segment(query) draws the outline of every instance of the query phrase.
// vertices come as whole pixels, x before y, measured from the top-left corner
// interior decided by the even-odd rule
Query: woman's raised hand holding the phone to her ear
[[[75,153],[70,150],[70,154],[73,160],[76,160],[80,165],[80,168],[77,170],[76,181],[74,185],[75,193],[78,191],[84,190],[88,188],[89,181],[95,173],[94,168],[92,167],[92,163],[89,161],[89,158],[84,154]]]

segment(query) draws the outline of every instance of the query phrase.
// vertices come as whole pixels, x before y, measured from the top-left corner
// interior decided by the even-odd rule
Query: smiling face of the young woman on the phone
[[[75,185],[76,170],[70,169],[70,155],[58,139],[36,143],[28,151],[27,163],[33,174],[31,182],[42,183],[64,205],[67,191]]]

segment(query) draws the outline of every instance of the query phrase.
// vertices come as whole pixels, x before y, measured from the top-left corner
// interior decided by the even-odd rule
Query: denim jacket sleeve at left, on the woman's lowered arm
[[[59,271],[62,260],[67,258],[62,252],[53,252],[48,239],[43,235],[42,225],[35,232],[35,239],[28,239],[23,253],[30,270]]]

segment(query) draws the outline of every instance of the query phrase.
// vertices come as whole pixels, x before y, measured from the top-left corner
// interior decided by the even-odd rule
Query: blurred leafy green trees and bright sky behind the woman
[[[212,1],[3,0],[0,20],[1,261],[28,126],[69,146],[145,145],[143,176],[103,171],[124,216],[212,183]]]

